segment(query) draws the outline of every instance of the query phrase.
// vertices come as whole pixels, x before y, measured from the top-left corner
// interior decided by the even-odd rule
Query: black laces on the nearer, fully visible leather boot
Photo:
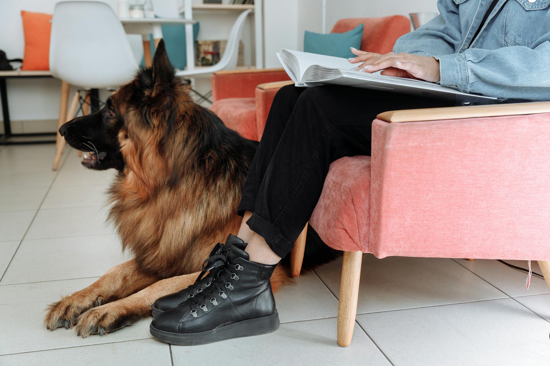
[[[189,305],[191,307],[191,315],[197,317],[197,307],[199,307],[205,313],[208,311],[208,306],[214,307],[218,305],[215,294],[217,294],[222,299],[226,299],[227,291],[233,290],[233,284],[235,281],[239,280],[237,271],[243,271],[243,266],[240,264],[231,264],[225,258],[225,265],[219,269],[219,271],[213,276],[213,280],[210,286],[206,289],[199,289],[197,294],[190,295]]]

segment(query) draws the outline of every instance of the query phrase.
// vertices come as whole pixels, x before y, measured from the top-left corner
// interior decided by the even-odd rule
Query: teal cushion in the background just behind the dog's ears
[[[187,66],[187,52],[185,49],[185,25],[180,24],[163,24],[162,38],[166,46],[166,52],[170,62],[176,69],[183,70]],[[197,40],[199,34],[199,23],[193,24],[193,43]],[[155,54],[155,41],[153,35],[149,35],[151,44],[151,57]],[[145,66],[145,60],[142,58],[141,67]]]

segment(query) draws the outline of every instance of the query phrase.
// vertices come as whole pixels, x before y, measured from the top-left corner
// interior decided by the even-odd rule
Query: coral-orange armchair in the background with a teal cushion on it
[[[402,15],[384,18],[341,19],[331,33],[343,33],[363,24],[361,49],[388,53],[397,38],[410,31]],[[212,75],[210,109],[243,137],[260,140],[273,97],[284,85],[293,83],[283,69],[219,71]]]

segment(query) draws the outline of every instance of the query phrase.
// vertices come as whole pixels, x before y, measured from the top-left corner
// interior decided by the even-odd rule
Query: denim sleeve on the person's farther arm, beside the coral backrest
[[[414,32],[401,36],[393,52],[428,57],[455,52],[461,42],[458,5],[453,0],[439,0],[437,7],[441,14]]]

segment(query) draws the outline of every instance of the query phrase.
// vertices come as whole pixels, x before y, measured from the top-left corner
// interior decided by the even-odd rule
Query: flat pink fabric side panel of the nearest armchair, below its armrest
[[[550,113],[372,124],[369,251],[550,260]]]

